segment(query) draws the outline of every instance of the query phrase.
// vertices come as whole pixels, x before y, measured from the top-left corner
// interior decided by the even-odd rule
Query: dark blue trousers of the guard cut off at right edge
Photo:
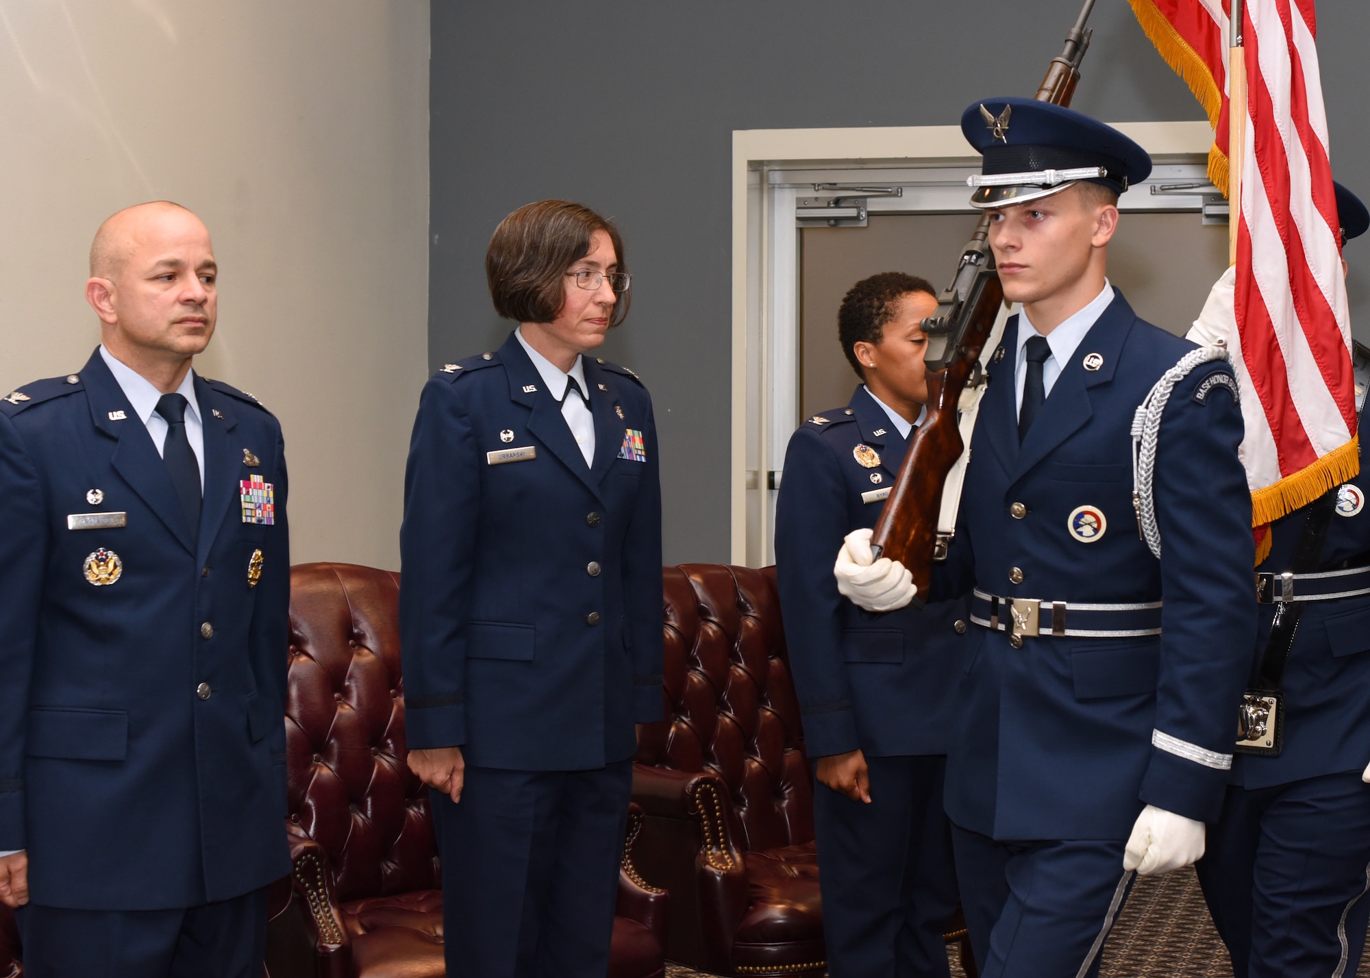
[[[1354,975],[1370,910],[1370,785],[1347,771],[1230,786],[1197,870],[1237,978]]]

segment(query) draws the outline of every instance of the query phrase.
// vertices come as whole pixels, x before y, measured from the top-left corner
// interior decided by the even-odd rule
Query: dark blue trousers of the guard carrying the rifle
[[[952,841],[981,978],[1078,975],[1130,889],[1122,840],[996,842],[954,825]]]

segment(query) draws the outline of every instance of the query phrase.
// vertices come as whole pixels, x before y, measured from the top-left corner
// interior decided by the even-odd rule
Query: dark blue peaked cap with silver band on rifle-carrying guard
[[[1151,156],[1112,126],[1034,99],[985,99],[960,116],[960,131],[985,158],[971,207],[1037,200],[1089,181],[1118,193],[1151,174]]]

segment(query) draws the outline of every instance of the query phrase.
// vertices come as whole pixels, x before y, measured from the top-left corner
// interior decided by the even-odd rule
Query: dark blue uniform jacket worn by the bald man
[[[197,542],[99,351],[0,400],[0,849],[27,848],[36,904],[190,907],[290,871],[281,426],[226,384],[195,396]],[[244,522],[255,477],[271,525]],[[97,515],[125,525],[71,529]]]

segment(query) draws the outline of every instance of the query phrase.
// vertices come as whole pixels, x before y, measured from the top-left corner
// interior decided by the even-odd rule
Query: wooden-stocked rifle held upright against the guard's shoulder
[[[1037,101],[1069,105],[1080,81],[1080,63],[1089,49],[1092,29],[1085,5],[1066,34],[1066,47],[1051,60],[1034,96]],[[951,533],[937,531],[943,486],[966,444],[958,426],[960,394],[985,382],[980,353],[995,326],[1004,288],[989,249],[989,215],[982,214],[956,266],[951,285],[937,296],[937,312],[922,322],[927,334],[927,415],[914,431],[885,508],[871,534],[875,557],[901,562],[912,574],[922,607],[932,585],[933,562],[947,559]]]

